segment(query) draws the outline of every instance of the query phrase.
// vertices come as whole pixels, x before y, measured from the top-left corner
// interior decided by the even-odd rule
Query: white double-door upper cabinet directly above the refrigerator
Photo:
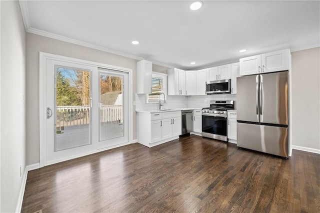
[[[282,49],[240,58],[240,75],[288,70],[289,57],[290,50]]]

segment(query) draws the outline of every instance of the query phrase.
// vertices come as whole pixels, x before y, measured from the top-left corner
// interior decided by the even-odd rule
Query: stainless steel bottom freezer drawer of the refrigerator
[[[288,157],[288,128],[237,122],[236,145]]]

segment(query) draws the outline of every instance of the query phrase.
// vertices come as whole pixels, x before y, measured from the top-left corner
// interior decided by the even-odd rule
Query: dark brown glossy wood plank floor
[[[29,171],[22,212],[320,212],[320,155],[191,135]]]

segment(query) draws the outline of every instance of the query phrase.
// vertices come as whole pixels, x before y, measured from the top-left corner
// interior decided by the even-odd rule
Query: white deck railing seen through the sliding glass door
[[[100,122],[123,121],[122,105],[100,106]],[[90,123],[90,107],[82,106],[56,106],[56,127],[78,126]]]

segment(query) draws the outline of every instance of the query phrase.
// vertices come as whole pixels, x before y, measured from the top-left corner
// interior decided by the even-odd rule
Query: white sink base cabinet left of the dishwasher
[[[181,111],[138,112],[137,142],[151,147],[178,138],[181,134]]]

